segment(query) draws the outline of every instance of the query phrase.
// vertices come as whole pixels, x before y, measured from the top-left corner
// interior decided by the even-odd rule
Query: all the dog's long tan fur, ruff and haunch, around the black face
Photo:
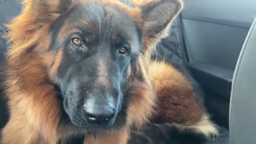
[[[72,2],[78,3],[81,1]],[[107,1],[99,2],[105,3]],[[193,101],[193,86],[187,81],[186,77],[183,77],[171,65],[149,60],[149,55],[154,51],[156,44],[167,35],[171,19],[181,10],[181,1],[173,0],[173,3],[177,6],[172,7],[171,12],[174,15],[167,23],[167,28],[156,34],[155,37],[147,37],[150,33],[148,29],[150,27],[147,27],[145,21],[142,21],[141,9],[143,6],[154,5],[160,1],[132,2],[137,6],[135,9],[130,9],[116,1],[108,1],[109,4],[118,5],[120,9],[130,13],[130,17],[138,24],[139,28],[143,28],[143,37],[145,38],[137,72],[130,75],[134,79],[129,83],[130,97],[126,111],[126,124],[118,130],[102,131],[96,135],[89,135],[85,138],[84,143],[125,144],[129,140],[134,127],[139,130],[150,120],[154,121],[154,118],[159,117],[157,115],[153,116],[155,114],[153,111],[162,111],[159,107],[162,105],[164,110],[167,111],[162,117],[162,122],[172,123],[175,121],[181,125],[178,126],[180,129],[188,127],[188,129],[193,129],[206,136],[216,134],[217,130],[208,116],[204,115],[205,111]],[[3,144],[65,143],[70,137],[90,133],[90,130],[70,126],[62,121],[61,114],[63,111],[59,101],[60,94],[52,82],[48,81],[48,78],[54,79],[53,76],[63,55],[59,52],[54,59],[54,53],[42,53],[42,51],[45,51],[50,45],[51,37],[48,33],[52,24],[65,12],[57,8],[59,7],[59,1],[51,1],[50,5],[50,7],[45,7],[45,4],[38,4],[35,9],[31,0],[24,0],[22,13],[10,25],[7,25],[9,28],[7,37],[12,42],[12,46],[7,53],[8,60],[5,67],[5,93],[10,110],[10,121],[2,130],[1,143]],[[70,7],[64,7],[66,10],[70,9]],[[155,71],[155,69],[158,69],[158,71]],[[163,83],[165,84],[163,85]],[[169,89],[169,87],[172,89]],[[187,105],[188,109],[180,108],[183,111],[176,111],[177,107],[168,107],[170,103],[175,101],[171,97],[175,94],[175,90],[185,93],[184,96],[181,96],[181,99],[187,101],[187,103],[176,102],[179,102],[182,107]],[[165,92],[161,93],[161,91]],[[158,103],[161,99],[163,99],[162,102],[165,101],[164,99],[169,101]],[[191,111],[196,114],[190,114]],[[178,116],[179,112],[181,112],[182,117],[180,119],[173,118],[173,115]]]

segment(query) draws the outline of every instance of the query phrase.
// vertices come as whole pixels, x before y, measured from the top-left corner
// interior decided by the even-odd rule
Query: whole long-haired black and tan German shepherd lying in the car
[[[196,84],[151,57],[182,2],[130,3],[23,0],[7,25],[1,143],[193,143],[218,133]]]

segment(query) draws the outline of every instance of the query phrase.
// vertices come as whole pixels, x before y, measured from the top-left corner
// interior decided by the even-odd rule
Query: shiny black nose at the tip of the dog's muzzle
[[[116,108],[108,107],[86,107],[83,109],[83,117],[90,124],[106,124],[114,118]]]

